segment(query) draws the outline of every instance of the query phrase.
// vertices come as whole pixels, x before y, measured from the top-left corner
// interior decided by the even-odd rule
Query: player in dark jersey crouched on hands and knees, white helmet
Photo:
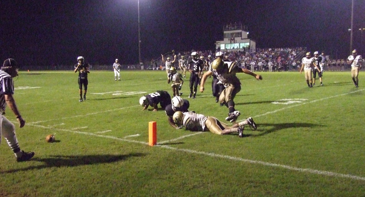
[[[153,107],[153,111],[157,111],[158,103],[160,103],[162,109],[165,109],[167,105],[171,104],[170,94],[166,91],[157,90],[139,99],[139,104],[143,107],[142,111],[147,109],[148,106]]]

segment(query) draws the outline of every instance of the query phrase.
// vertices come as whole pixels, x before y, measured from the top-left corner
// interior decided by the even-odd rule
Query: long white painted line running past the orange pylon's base
[[[36,126],[36,127],[40,127],[40,128],[44,128],[44,129],[53,129],[53,130],[71,132],[71,133],[84,134],[84,135],[89,135],[89,136],[104,137],[104,138],[114,139],[114,140],[119,140],[119,141],[126,141],[126,142],[130,142],[130,143],[138,143],[138,144],[148,145],[147,142],[137,141],[137,140],[128,140],[128,139],[114,137],[114,136],[98,135],[98,134],[95,134],[95,133],[79,132],[79,131],[74,131],[74,130],[69,130],[69,129],[57,129],[57,128],[51,128],[51,127],[42,126],[42,125],[34,125],[34,124],[28,124],[28,125]],[[223,159],[241,161],[241,162],[245,162],[245,163],[261,164],[263,166],[285,168],[285,169],[288,169],[288,170],[311,173],[311,174],[325,175],[325,176],[330,176],[330,177],[350,178],[350,179],[354,179],[354,180],[365,181],[365,177],[360,177],[360,176],[351,175],[351,174],[334,173],[334,172],[330,172],[330,171],[314,170],[314,169],[311,169],[311,168],[298,168],[298,167],[292,167],[292,166],[287,166],[287,165],[282,165],[282,164],[262,162],[262,161],[251,160],[251,159],[243,159],[243,158],[233,157],[233,156],[228,156],[228,155],[220,155],[220,154],[215,154],[215,153],[211,153],[211,152],[194,151],[194,150],[183,149],[183,148],[174,148],[174,147],[170,147],[170,146],[167,146],[167,145],[157,144],[155,146],[161,147],[161,148],[166,148],[166,149],[171,149],[171,150],[174,150],[174,151],[188,152],[188,153],[198,154],[198,155],[206,155],[206,156],[210,156],[210,157],[213,157],[213,158],[223,158]]]

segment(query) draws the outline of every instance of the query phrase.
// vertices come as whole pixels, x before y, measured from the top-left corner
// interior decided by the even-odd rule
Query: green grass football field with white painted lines
[[[0,196],[364,196],[364,73],[359,88],[349,71],[324,72],[314,88],[304,73],[260,74],[238,74],[238,120],[258,125],[239,138],[173,129],[164,111],[141,111],[143,94],[172,95],[164,71],[122,71],[122,81],[91,71],[84,102],[72,71],[20,72],[14,97],[26,126],[9,109],[5,116],[35,156],[17,163],[2,139]],[[189,109],[226,122],[210,84],[188,98]],[[189,79],[181,91],[187,98]],[[153,147],[149,121],[157,122]]]

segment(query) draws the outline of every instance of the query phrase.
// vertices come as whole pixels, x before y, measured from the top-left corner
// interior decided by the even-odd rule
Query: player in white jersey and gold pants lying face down
[[[178,126],[184,126],[186,130],[190,131],[207,131],[218,135],[225,135],[228,133],[238,133],[239,137],[243,137],[243,128],[245,125],[250,125],[254,130],[257,129],[256,123],[252,117],[247,118],[242,122],[228,126],[212,116],[204,116],[193,111],[181,112],[176,111],[172,117],[174,123]]]

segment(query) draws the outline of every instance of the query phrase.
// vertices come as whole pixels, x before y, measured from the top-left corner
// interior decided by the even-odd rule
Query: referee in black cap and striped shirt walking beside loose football
[[[11,111],[16,116],[16,120],[20,123],[19,127],[22,128],[25,125],[18,107],[16,107],[14,94],[14,81],[13,77],[18,75],[18,64],[14,59],[7,59],[4,61],[3,67],[0,70],[0,141],[3,135],[6,139],[9,147],[13,150],[16,161],[24,162],[31,159],[34,156],[34,152],[24,152],[19,148],[18,138],[15,134],[15,125],[10,122],[5,116],[5,108],[9,106]]]

